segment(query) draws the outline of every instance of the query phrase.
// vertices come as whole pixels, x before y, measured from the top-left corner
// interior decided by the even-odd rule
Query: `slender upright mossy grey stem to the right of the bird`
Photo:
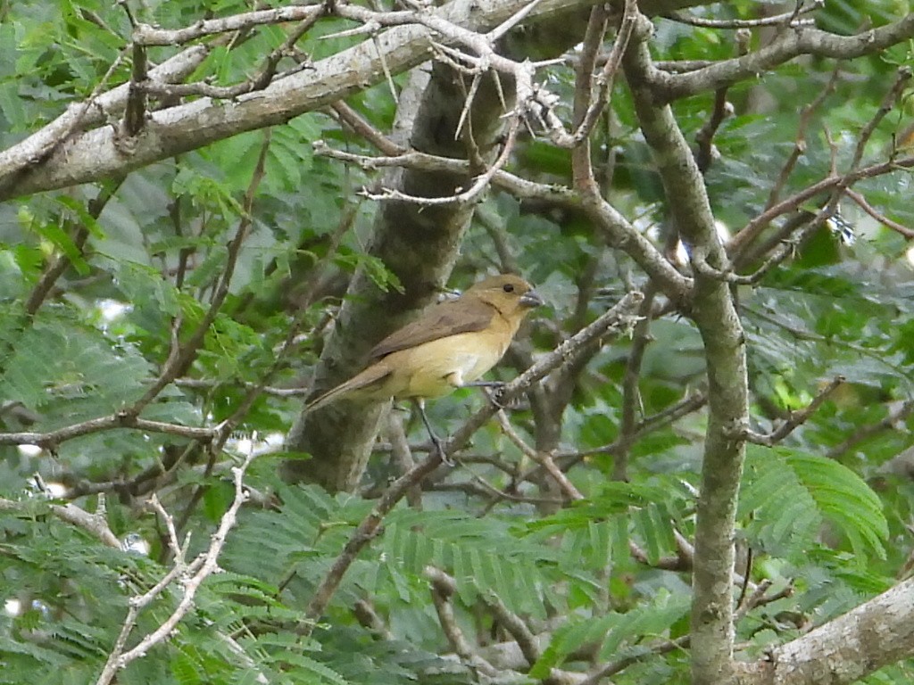
[[[623,62],[635,111],[651,146],[675,227],[701,260],[726,269],[702,174],[673,112],[647,85],[651,63],[646,32],[632,38]],[[692,605],[693,677],[702,683],[733,681],[733,529],[745,445],[728,427],[749,418],[744,335],[729,287],[696,270],[690,311],[705,346],[708,422],[697,505]]]

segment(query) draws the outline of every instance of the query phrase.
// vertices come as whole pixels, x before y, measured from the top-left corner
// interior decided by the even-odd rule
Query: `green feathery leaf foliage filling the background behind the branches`
[[[107,73],[131,30],[122,8],[111,5],[0,3],[0,147],[37,130],[103,81],[129,79],[129,60]],[[697,12],[749,17],[758,5]],[[901,5],[830,2],[813,16],[819,26],[849,34],[898,18],[906,11]],[[226,16],[250,8],[181,0],[133,9],[143,21],[178,27],[205,12]],[[655,25],[658,60],[733,54],[732,32],[666,19]],[[314,58],[329,54],[345,38],[328,41],[329,47],[318,37],[344,26],[322,23],[303,48]],[[282,29],[263,28],[238,47],[214,52],[196,76],[236,82],[283,38]],[[764,31],[753,32],[753,47],[765,39]],[[154,60],[174,52],[157,50]],[[856,133],[877,111],[898,65],[910,61],[909,44],[839,65],[804,58],[730,90],[734,112],[717,133],[718,156],[706,174],[722,227],[735,232],[764,210],[797,140],[799,110],[824,92],[835,68],[834,88],[808,115],[805,150],[785,193],[824,177],[833,156],[838,166],[848,162]],[[548,79],[570,100],[568,64],[551,68]],[[387,87],[366,90],[351,104],[388,130],[394,103]],[[689,140],[712,106],[712,96],[675,103]],[[903,140],[910,114],[904,98],[877,127],[869,158],[884,158],[893,141]],[[0,205],[0,429],[50,431],[112,415],[143,396],[165,362],[175,317],[193,330],[218,290],[265,140],[264,132],[245,133],[144,167],[122,182]],[[374,153],[324,112],[270,131],[250,234],[228,298],[193,364],[143,410],[144,418],[213,425],[238,409],[250,384],[306,387],[354,269],[367,264],[380,286],[396,287],[365,253],[377,206],[358,191],[376,183],[377,173],[316,155],[316,140]],[[623,87],[593,149],[612,203],[661,242],[663,194]],[[542,138],[520,142],[510,168],[547,183],[570,178],[568,154]],[[898,171],[856,189],[910,227],[909,185],[909,172]],[[93,202],[101,212],[93,211]],[[846,379],[778,448],[750,450],[739,501],[738,573],[750,560],[751,580],[770,584],[769,596],[780,596],[740,616],[739,649],[747,659],[907,573],[914,481],[904,450],[914,420],[914,279],[904,237],[856,205],[845,206],[844,214],[859,234],[854,245],[823,229],[760,284],[738,288],[753,428],[771,430],[836,375]],[[58,254],[71,266],[48,300],[28,311]],[[452,286],[466,287],[506,267],[519,269],[549,301],[522,342],[534,353],[605,310],[607,296],[621,294],[622,284],[643,286],[641,272],[605,248],[579,216],[493,191],[465,238]],[[301,321],[303,334],[274,368],[293,321]],[[698,410],[675,421],[649,417],[705,390],[701,341],[692,324],[675,315],[651,324],[637,397],[645,427],[622,450],[622,383],[631,346],[615,342],[592,359],[562,417],[558,459],[583,501],[564,506],[546,479],[517,484],[530,462],[490,422],[462,454],[462,467],[421,493],[420,506],[403,503],[388,516],[307,638],[295,630],[303,606],[398,467],[382,439],[363,489],[331,495],[283,483],[276,474],[286,455],[276,448],[260,456],[246,478],[258,496],[229,535],[220,558],[225,573],[207,580],[172,638],[124,669],[118,682],[476,681],[473,668],[447,656],[452,646],[431,601],[429,567],[452,577],[457,625],[480,649],[507,639],[504,621],[486,608],[495,600],[545,636],[532,668],[518,669],[530,679],[547,678],[551,668],[617,661],[614,682],[683,680],[685,644],[672,642],[688,633],[690,581],[679,538],[694,532],[705,416]],[[495,375],[513,377],[510,365],[522,359],[509,355]],[[182,540],[189,535],[190,553],[199,551],[232,501],[233,460],[262,449],[265,437],[275,446],[301,403],[293,392],[260,395],[219,458],[188,449],[182,437],[128,428],[92,432],[52,450],[0,448],[0,496],[16,503],[0,507],[0,587],[7,603],[0,613],[0,682],[95,679],[129,597],[154,585],[172,562],[161,519],[146,499],[157,493]],[[483,403],[480,394],[461,391],[435,403],[430,414],[436,426],[454,430]],[[533,439],[534,418],[525,407],[513,411],[511,421]],[[421,426],[410,420],[407,428],[419,456]],[[618,479],[621,451],[624,480]],[[33,474],[59,487],[37,488]],[[481,481],[515,498],[493,497]],[[148,553],[112,549],[53,515],[49,507],[67,501],[86,511],[104,507],[112,532],[142,539]],[[643,556],[632,554],[632,543]],[[158,626],[180,596],[173,586],[146,608],[135,633]],[[914,669],[902,662],[866,682],[911,679]]]

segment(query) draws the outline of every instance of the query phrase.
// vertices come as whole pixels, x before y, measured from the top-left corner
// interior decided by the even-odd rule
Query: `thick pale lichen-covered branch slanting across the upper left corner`
[[[589,0],[541,0],[528,18],[550,16],[588,3]],[[526,5],[527,0],[453,0],[430,15],[470,31],[484,31],[498,26]],[[74,135],[65,142],[61,142],[59,134],[51,136],[50,147],[57,147],[44,163],[27,169],[6,166],[6,156],[32,162],[40,159],[34,152],[20,150],[20,143],[0,155],[0,200],[126,174],[240,132],[285,123],[381,82],[385,79],[385,69],[399,74],[418,66],[430,58],[433,39],[440,43],[453,41],[425,26],[396,26],[320,60],[314,69],[277,79],[266,89],[236,101],[201,98],[152,112],[143,132],[132,140],[129,152],[118,140],[118,132],[103,126]],[[43,134],[43,138],[47,140],[48,134]],[[17,174],[19,171],[23,173]]]

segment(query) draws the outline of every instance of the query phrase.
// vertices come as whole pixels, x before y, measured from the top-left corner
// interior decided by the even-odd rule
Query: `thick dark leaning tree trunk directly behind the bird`
[[[510,95],[513,86],[501,83]],[[436,65],[415,113],[409,145],[423,153],[467,159],[474,145],[484,159],[497,152],[502,98],[491,75],[474,94],[472,114],[457,131],[469,84],[452,68]],[[511,102],[507,103],[508,107]],[[472,135],[472,140],[471,140]],[[471,183],[472,174],[430,174],[398,169],[385,184],[407,195],[447,197]],[[314,372],[312,396],[345,381],[365,364],[367,352],[416,311],[435,299],[451,274],[474,205],[422,206],[399,200],[384,202],[377,213],[368,253],[381,259],[403,291],[381,292],[363,269],[356,271],[333,334]],[[352,490],[365,469],[377,435],[383,405],[339,402],[303,414],[292,427],[287,445],[308,452],[309,460],[292,460],[283,468],[291,480],[317,482],[327,490]]]

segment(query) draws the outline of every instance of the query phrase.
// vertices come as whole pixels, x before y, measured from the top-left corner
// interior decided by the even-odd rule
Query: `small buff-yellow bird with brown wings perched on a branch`
[[[305,412],[344,398],[413,400],[432,444],[447,461],[425,414],[425,400],[468,385],[500,385],[477,379],[504,356],[526,314],[542,304],[533,286],[515,274],[480,280],[456,300],[432,305],[378,342],[364,371],[308,403]]]

